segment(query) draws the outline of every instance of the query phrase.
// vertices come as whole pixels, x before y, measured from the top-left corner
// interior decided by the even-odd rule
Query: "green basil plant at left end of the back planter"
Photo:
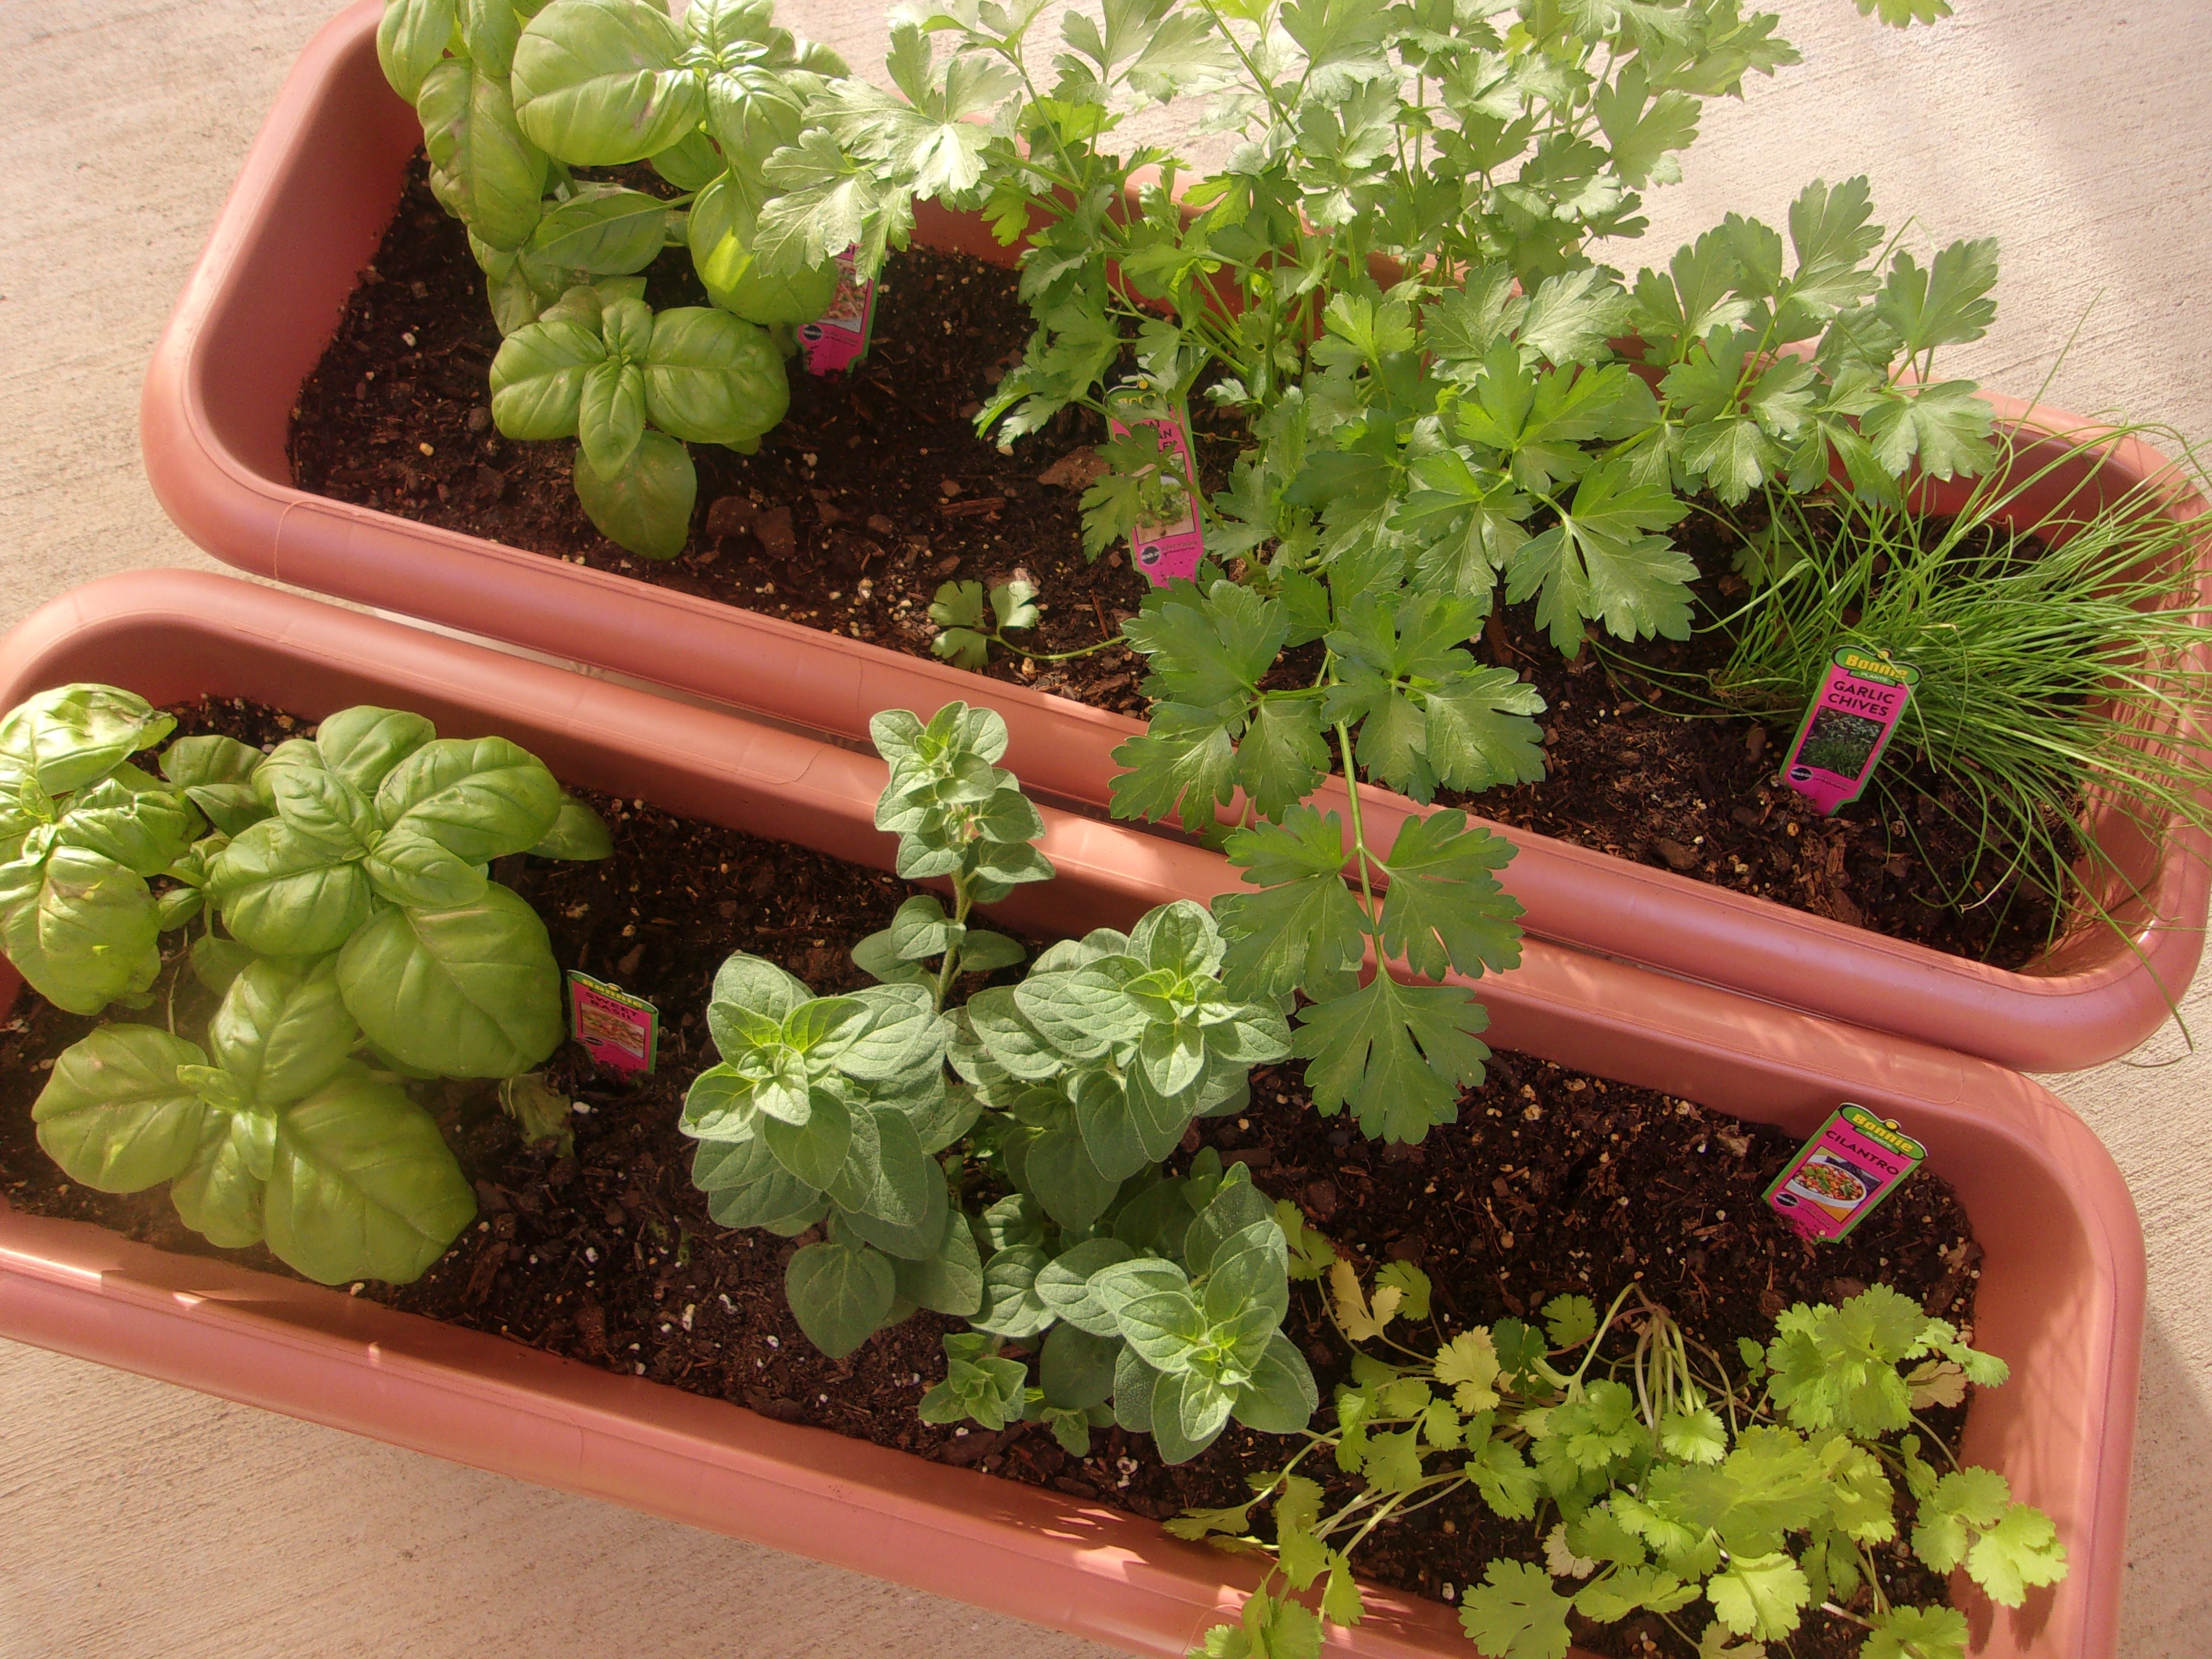
[[[681,22],[655,0],[385,0],[376,51],[507,336],[500,431],[580,438],[591,522],[675,557],[699,489],[686,445],[750,453],[790,403],[792,325],[836,294],[843,246],[768,272],[752,243],[770,157],[818,122],[845,64],[768,0],[697,0]],[[679,195],[575,173],[630,161]],[[644,305],[637,272],[668,246],[690,248],[712,307]]]

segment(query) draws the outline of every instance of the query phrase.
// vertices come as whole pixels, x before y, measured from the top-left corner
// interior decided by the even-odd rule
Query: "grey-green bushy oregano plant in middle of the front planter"
[[[971,918],[1051,878],[1033,845],[1044,821],[995,765],[998,714],[951,703],[927,723],[878,714],[872,730],[889,761],[876,825],[898,834],[902,876],[949,880],[951,909],[900,905],[854,947],[878,984],[852,995],[816,998],[743,951],[723,962],[708,1006],[721,1064],[697,1077],[681,1119],[701,1141],[692,1179],[712,1217],[783,1237],[823,1228],[792,1256],[785,1292],[832,1358],[918,1307],[967,1318],[975,1334],[949,1340],[933,1420],[1018,1409],[1071,1447],[1119,1420],[1177,1460],[1230,1413],[1303,1427],[1318,1396],[1279,1336],[1287,1256],[1272,1210],[1219,1159],[1183,1179],[1159,1168],[1192,1117],[1248,1099],[1254,1062],[1290,1053],[1281,1009],[1221,989],[1223,940],[1192,902],[1055,945],[1020,987],[949,1006],[962,975],[1022,960]],[[1013,1190],[971,1210],[967,1159]],[[1104,1301],[1084,1301],[1106,1267],[1119,1272]],[[1022,1367],[998,1343],[1055,1325],[1042,1385],[1011,1383]]]

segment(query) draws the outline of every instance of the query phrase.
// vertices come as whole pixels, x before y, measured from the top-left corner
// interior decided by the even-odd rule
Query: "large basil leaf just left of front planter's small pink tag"
[[[338,989],[369,1042],[438,1077],[513,1077],[562,1040],[546,927],[498,883],[473,905],[372,918],[338,953]]]

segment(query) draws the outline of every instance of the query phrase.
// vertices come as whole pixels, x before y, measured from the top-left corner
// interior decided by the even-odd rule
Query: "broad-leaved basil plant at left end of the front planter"
[[[487,865],[604,858],[606,825],[513,743],[420,714],[347,708],[270,754],[186,737],[159,776],[128,759],[173,728],[113,686],[0,721],[0,936],[24,980],[71,1013],[148,1006],[161,933],[197,920],[190,973],[221,998],[204,1044],[170,1013],[66,1048],[38,1141],[100,1192],[168,1181],[217,1245],[416,1279],[476,1199],[403,1079],[515,1077],[562,1037],[546,929]]]

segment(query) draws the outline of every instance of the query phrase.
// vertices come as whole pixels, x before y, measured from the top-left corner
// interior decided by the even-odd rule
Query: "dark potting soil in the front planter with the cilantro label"
[[[228,701],[177,714],[184,732],[223,730],[261,745],[307,730]],[[677,1113],[690,1077],[714,1057],[703,1015],[723,956],[754,951],[821,993],[852,989],[865,982],[847,956],[852,942],[883,927],[914,889],[650,803],[588,799],[613,827],[611,858],[515,858],[498,874],[538,907],[564,969],[657,1002],[659,1071],[626,1079],[564,1046],[544,1071],[577,1102],[573,1157],[524,1146],[487,1084],[418,1086],[476,1183],[482,1214],[418,1283],[356,1285],[354,1294],[1155,1520],[1241,1502],[1248,1471],[1281,1464],[1287,1440],[1234,1427],[1206,1455],[1170,1469],[1146,1436],[1121,1429],[1099,1431],[1093,1455],[1071,1458],[1042,1425],[1002,1433],[925,1425],[914,1407],[942,1376],[940,1336],[960,1327],[936,1314],[918,1314],[843,1360],[823,1358],[783,1298],[783,1267],[807,1239],[717,1225],[690,1183],[692,1144],[677,1133]],[[206,993],[179,975],[179,1029],[199,1029],[206,1011]],[[177,1221],[166,1190],[91,1192],[38,1150],[31,1102],[53,1057],[93,1024],[27,993],[0,1029],[0,1203],[217,1254]],[[1391,1259],[1420,1265],[1444,1332],[1528,1316],[1562,1292],[1604,1307],[1626,1283],[1639,1283],[1694,1340],[1723,1354],[1739,1336],[1772,1334],[1774,1314],[1790,1303],[1840,1301],[1871,1283],[1898,1287],[1931,1314],[1973,1318],[1982,1252],[1938,1177],[1916,1175],[1851,1239],[1814,1248],[1761,1203],[1796,1146],[1792,1137],[1526,1055],[1500,1053],[1484,1086],[1462,1099],[1458,1124],[1420,1146],[1380,1146],[1316,1115],[1287,1068],[1256,1071],[1250,1110],[1199,1124],[1177,1166],[1199,1146],[1248,1164],[1259,1188],[1296,1201],[1363,1272]],[[259,1248],[234,1259],[290,1274]],[[1287,1329],[1327,1398],[1347,1374],[1347,1356],[1318,1287],[1296,1287]],[[1964,1413],[1929,1418],[1955,1444]],[[1502,1553],[1540,1559],[1540,1528],[1500,1522],[1462,1493],[1378,1531],[1358,1559],[1371,1579],[1453,1599]],[[1944,1595],[1900,1548],[1882,1551],[1882,1566],[1905,1599]],[[1840,1659],[1856,1650],[1851,1635],[1816,1613],[1792,1652]],[[1577,1621],[1577,1639],[1619,1659],[1688,1655],[1648,1617]]]

